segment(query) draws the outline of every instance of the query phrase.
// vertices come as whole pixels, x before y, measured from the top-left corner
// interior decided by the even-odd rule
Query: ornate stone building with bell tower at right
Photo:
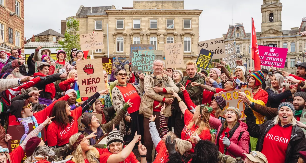
[[[306,57],[304,50],[306,36],[298,34],[306,30],[306,17],[302,18],[300,24],[296,24],[299,27],[282,30],[282,8],[280,0],[263,0],[263,5],[261,5],[261,31],[256,29],[256,36],[258,45],[288,48],[285,67],[282,70],[293,74],[296,71],[294,65],[297,62],[304,62]],[[256,22],[258,20],[255,20]],[[236,52],[244,54],[241,59],[248,68],[251,66],[249,60],[250,36],[250,33],[245,33],[242,23],[230,25],[227,33],[223,34],[226,43],[236,40]]]

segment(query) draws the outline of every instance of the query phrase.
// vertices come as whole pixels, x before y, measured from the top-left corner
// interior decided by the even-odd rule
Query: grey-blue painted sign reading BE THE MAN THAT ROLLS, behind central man
[[[162,60],[162,50],[133,50],[130,53],[132,71],[153,72],[154,60]]]

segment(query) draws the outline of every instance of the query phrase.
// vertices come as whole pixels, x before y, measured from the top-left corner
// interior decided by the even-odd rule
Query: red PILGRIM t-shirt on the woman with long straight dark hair
[[[64,129],[61,129],[59,125],[55,122],[52,122],[47,129],[47,141],[48,146],[62,146],[69,143],[69,138],[78,132],[78,123],[77,120],[82,115],[82,107],[77,107],[71,111],[71,116],[73,120],[68,124]]]

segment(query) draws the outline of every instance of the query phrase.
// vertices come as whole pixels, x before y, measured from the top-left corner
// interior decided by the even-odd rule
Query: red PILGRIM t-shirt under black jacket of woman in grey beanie
[[[292,126],[281,127],[274,125],[265,135],[263,139],[263,153],[268,162],[284,163],[286,158],[286,151],[292,133]]]

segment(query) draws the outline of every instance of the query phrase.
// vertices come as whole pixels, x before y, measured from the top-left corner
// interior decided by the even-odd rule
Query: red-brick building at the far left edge
[[[7,53],[24,45],[24,0],[0,0],[0,36]]]

